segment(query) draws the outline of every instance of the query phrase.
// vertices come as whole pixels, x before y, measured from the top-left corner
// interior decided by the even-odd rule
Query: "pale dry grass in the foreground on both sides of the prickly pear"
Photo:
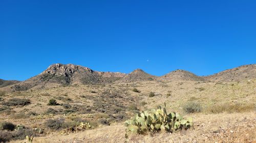
[[[256,139],[256,115],[249,113],[221,113],[215,115],[192,115],[195,129],[181,132],[158,133],[155,135],[130,135],[131,142],[250,142]],[[246,125],[250,126],[246,126]],[[229,138],[218,138],[220,129],[225,130]],[[36,137],[34,142],[124,142],[125,127],[123,124],[104,126],[68,135],[54,133],[47,137]],[[20,142],[20,141],[11,141]]]

